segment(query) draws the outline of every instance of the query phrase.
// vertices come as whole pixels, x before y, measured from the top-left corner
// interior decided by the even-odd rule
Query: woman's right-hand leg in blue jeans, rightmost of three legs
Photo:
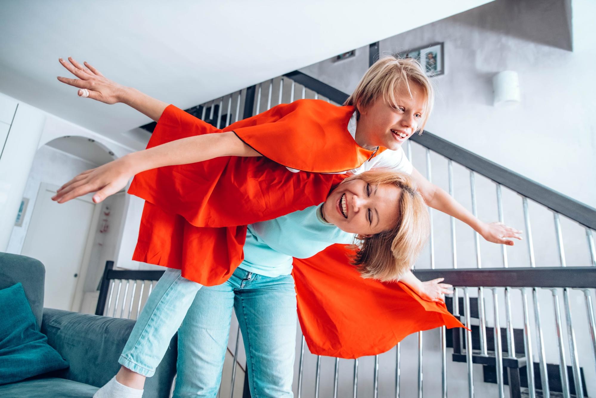
[[[293,397],[296,349],[296,290],[291,275],[253,273],[237,290],[234,309],[246,349],[253,397]]]

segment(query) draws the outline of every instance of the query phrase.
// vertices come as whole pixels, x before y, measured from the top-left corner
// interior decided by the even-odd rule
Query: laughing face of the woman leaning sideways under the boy
[[[352,179],[342,182],[327,197],[323,217],[351,234],[378,234],[398,221],[401,194],[401,188],[394,184],[371,185]]]

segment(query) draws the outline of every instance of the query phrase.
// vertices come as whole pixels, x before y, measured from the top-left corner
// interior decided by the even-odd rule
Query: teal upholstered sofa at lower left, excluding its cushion
[[[38,260],[0,253],[0,289],[23,284],[39,330],[70,366],[0,385],[0,397],[92,397],[120,368],[118,358],[135,321],[44,308],[44,279],[45,268]],[[145,382],[143,398],[169,397],[176,374],[177,341],[174,336],[155,375]]]

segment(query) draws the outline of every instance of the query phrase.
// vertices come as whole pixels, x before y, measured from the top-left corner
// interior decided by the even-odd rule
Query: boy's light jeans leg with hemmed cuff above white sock
[[[167,269],[143,307],[119,363],[145,377],[155,373],[167,347],[202,285]]]

